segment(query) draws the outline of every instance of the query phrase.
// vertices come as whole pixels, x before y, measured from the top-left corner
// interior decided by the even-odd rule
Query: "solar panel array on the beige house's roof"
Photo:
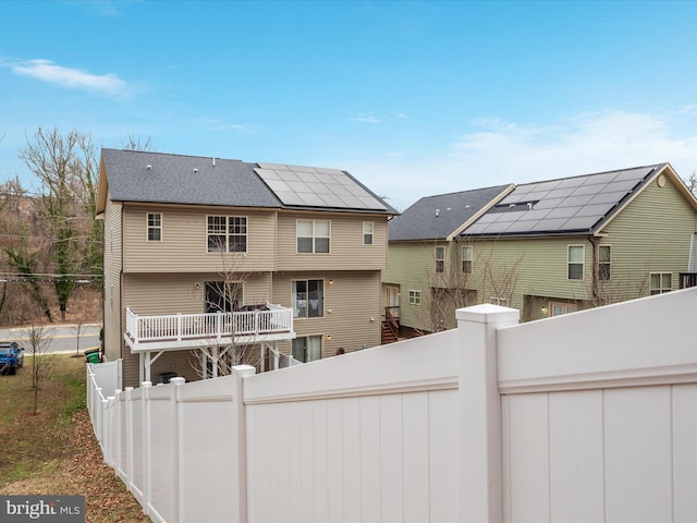
[[[258,163],[256,173],[285,205],[384,210],[387,207],[337,169]]]

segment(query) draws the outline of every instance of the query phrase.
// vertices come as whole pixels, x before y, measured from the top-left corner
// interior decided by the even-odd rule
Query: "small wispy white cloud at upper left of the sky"
[[[29,76],[69,89],[86,89],[107,96],[123,95],[127,89],[127,84],[114,74],[91,74],[78,69],[58,65],[50,60],[36,59],[14,62],[9,66],[14,74]]]

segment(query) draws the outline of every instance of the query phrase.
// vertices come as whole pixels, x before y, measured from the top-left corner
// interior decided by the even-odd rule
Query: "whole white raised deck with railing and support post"
[[[279,341],[295,339],[293,309],[267,303],[234,313],[140,316],[126,308],[123,338],[140,355],[140,382],[151,381],[150,367],[163,352],[258,344],[278,355]]]

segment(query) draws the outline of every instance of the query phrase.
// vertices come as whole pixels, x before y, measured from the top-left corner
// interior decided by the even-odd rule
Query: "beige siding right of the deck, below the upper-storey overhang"
[[[380,272],[311,271],[284,272],[273,276],[273,303],[292,306],[293,280],[325,280],[325,316],[295,318],[294,329],[302,336],[331,336],[323,340],[322,357],[332,356],[343,346],[353,352],[380,344]],[[329,284],[329,280],[333,280]],[[331,311],[331,312],[330,312]],[[281,350],[289,354],[291,343]]]

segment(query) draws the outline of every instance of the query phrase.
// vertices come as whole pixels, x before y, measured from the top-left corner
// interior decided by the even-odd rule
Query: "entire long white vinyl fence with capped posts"
[[[90,413],[158,522],[697,521],[695,311],[697,289],[523,325],[478,305],[451,331]]]

